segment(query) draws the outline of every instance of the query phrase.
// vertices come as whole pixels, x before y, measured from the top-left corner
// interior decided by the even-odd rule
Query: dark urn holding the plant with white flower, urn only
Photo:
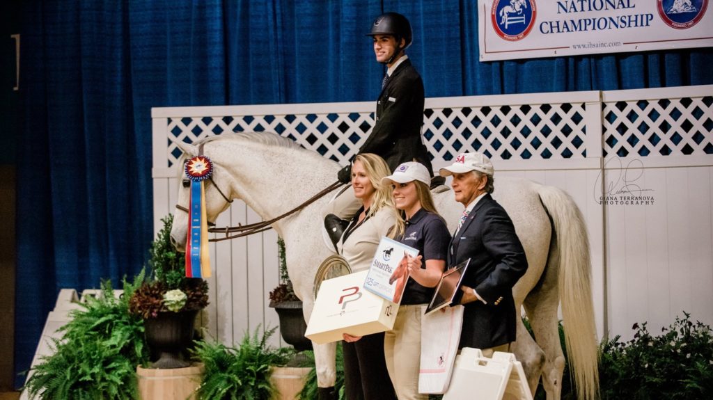
[[[183,352],[193,342],[193,323],[198,310],[159,312],[155,318],[143,321],[146,343],[158,359],[151,368],[171,369],[190,367]]]

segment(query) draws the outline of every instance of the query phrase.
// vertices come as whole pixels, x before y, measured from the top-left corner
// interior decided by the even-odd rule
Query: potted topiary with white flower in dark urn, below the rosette
[[[173,217],[161,222],[148,260],[152,274],[131,296],[129,310],[144,320],[146,342],[158,358],[151,367],[189,367],[184,354],[193,342],[195,316],[208,305],[208,285],[185,277],[185,255],[170,241]]]

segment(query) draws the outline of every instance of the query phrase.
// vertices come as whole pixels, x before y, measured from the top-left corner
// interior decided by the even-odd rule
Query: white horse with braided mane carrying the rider
[[[198,155],[195,145],[179,145],[189,156]],[[202,145],[202,154],[214,164],[213,181],[205,189],[209,221],[215,221],[228,208],[225,197],[242,199],[262,219],[272,219],[332,184],[340,168],[336,162],[302,149],[292,140],[265,132],[212,137],[203,140]],[[572,199],[552,186],[498,178],[495,187],[494,196],[513,219],[528,258],[528,271],[513,288],[513,294],[516,310],[523,305],[537,340],[535,343],[519,322],[512,351],[523,363],[533,393],[541,376],[548,399],[559,399],[564,368],[558,335],[561,297],[575,383],[581,399],[595,399],[597,339],[583,217]],[[320,218],[328,197],[272,224],[284,239],[289,277],[304,303],[305,320],[309,320],[314,305],[317,268],[333,253],[324,243]],[[448,228],[454,231],[463,207],[454,201],[450,190],[434,194],[434,200]],[[180,189],[178,203],[188,206],[187,188]],[[179,249],[185,246],[187,226],[188,215],[177,210],[171,237]],[[315,344],[314,355],[319,386],[334,386],[334,343]]]

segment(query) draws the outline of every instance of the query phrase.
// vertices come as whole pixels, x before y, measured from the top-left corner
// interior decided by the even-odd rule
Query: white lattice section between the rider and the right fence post
[[[444,107],[424,112],[436,159],[483,152],[495,159],[585,158],[585,103]]]

